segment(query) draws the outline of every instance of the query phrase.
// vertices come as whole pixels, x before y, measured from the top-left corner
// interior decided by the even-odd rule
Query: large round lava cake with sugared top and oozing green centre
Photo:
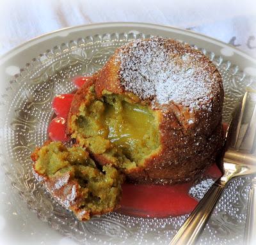
[[[132,182],[194,179],[223,145],[223,85],[202,52],[165,38],[120,47],[79,89],[67,131]]]

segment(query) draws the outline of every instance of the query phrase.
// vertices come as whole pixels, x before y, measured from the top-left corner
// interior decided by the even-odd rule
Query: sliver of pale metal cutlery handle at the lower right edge
[[[256,241],[256,177],[252,180],[249,192],[248,209],[244,232],[244,244],[252,245]]]

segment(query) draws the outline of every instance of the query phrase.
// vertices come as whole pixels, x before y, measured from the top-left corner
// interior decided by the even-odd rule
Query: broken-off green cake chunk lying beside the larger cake
[[[118,207],[124,175],[111,165],[100,170],[82,147],[46,142],[31,158],[36,179],[77,219],[87,220]]]

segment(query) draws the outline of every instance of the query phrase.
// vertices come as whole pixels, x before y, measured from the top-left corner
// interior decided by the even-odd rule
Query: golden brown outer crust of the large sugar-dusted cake
[[[152,47],[160,43],[159,52],[164,50],[167,54],[163,54],[164,59],[170,59],[168,62],[173,62],[170,67],[169,63],[163,66],[175,70],[174,73],[170,73],[169,78],[176,79],[175,81],[179,82],[178,86],[172,87],[170,79],[168,84],[164,84],[166,81],[157,84],[157,79],[162,79],[163,75],[160,74],[160,77],[150,80],[148,76],[152,74],[151,71],[148,73],[147,70],[140,70],[141,66],[145,67],[150,62],[134,61],[136,55],[138,59],[141,56],[147,56],[147,45],[151,40],[135,41],[118,48],[102,70],[93,75],[92,84],[95,85],[98,98],[102,96],[104,90],[114,94],[134,93],[141,99],[141,103],[146,103],[159,114],[161,149],[145,160],[145,167],[125,170],[128,179],[134,182],[169,184],[189,181],[216,160],[223,145],[221,76],[209,58],[195,48],[170,39],[155,38],[153,40]],[[141,50],[144,51],[140,53]],[[153,57],[152,60],[154,59],[156,59],[156,65],[153,68],[159,63],[158,57]],[[132,62],[134,64],[131,64]],[[179,72],[182,69],[182,72],[187,71],[184,70],[185,66],[188,66],[188,70],[192,69],[189,71],[192,74],[188,73],[182,77],[183,73]],[[160,71],[157,70],[157,72]],[[140,84],[141,74],[145,78],[144,84],[152,82],[148,91],[146,91],[147,87],[143,87],[143,83]],[[184,84],[182,84],[183,81]],[[69,118],[77,112],[81,103],[86,103],[81,94],[88,92],[88,86],[85,84],[77,91]],[[180,87],[181,90],[179,90]],[[163,96],[164,89],[166,94]],[[175,91],[181,95],[172,93],[172,89],[176,89]],[[73,133],[73,130],[68,121],[68,133]],[[102,165],[109,163],[109,160],[101,155],[95,155],[95,160]]]

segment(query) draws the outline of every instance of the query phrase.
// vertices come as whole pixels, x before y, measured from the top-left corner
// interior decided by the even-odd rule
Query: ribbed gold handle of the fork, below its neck
[[[186,219],[185,223],[180,227],[169,245],[195,244],[199,235],[204,230],[225,184],[225,182],[219,179],[211,186],[194,211],[191,212],[188,219]]]

